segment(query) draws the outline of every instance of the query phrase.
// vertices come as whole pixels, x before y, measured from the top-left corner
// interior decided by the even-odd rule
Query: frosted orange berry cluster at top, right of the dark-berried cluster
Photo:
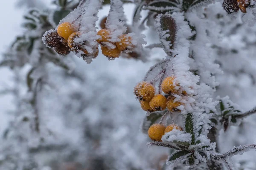
[[[132,37],[128,34],[119,36],[118,42],[111,41],[111,31],[108,29],[101,29],[98,31],[100,38],[97,42],[101,45],[102,54],[109,59],[117,58],[121,52],[134,48],[132,44]]]

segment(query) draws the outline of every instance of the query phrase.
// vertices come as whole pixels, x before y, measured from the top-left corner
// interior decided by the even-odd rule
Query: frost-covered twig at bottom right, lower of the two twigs
[[[236,155],[242,151],[248,151],[250,148],[256,149],[256,144],[247,144],[247,145],[243,145],[243,146],[240,145],[238,147],[234,147],[233,149],[231,149],[230,151],[228,151],[226,153],[211,155],[211,158],[213,160],[226,159],[228,156]]]

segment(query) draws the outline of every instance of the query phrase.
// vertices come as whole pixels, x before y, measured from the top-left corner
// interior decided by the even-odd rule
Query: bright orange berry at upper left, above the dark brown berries
[[[61,23],[57,28],[57,33],[59,36],[64,38],[65,40],[68,40],[68,37],[75,32],[76,29],[71,23]]]

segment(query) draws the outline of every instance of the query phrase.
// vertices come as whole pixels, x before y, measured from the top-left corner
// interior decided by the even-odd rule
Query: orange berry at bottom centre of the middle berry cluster
[[[163,111],[166,108],[166,97],[162,94],[155,95],[149,102],[153,111]]]

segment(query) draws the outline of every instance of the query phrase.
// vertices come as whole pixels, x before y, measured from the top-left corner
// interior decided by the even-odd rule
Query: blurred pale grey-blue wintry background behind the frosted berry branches
[[[149,139],[141,130],[145,111],[133,94],[136,83],[165,57],[164,52],[146,51],[146,62],[132,57],[109,61],[100,53],[86,64],[72,53],[62,58],[52,54],[40,38],[31,46],[26,40],[41,37],[56,26],[52,14],[60,6],[52,2],[0,1],[0,61],[12,61],[0,67],[0,170],[164,170],[171,151],[146,146]],[[128,25],[134,7],[124,5]],[[29,8],[36,16],[47,16],[47,22],[36,21],[35,28],[24,25],[27,18],[23,16],[32,14]],[[105,5],[99,11],[99,20],[108,10]],[[256,28],[243,25],[239,17],[227,17],[221,3],[202,11],[221,30],[219,39],[212,38],[210,44],[224,71],[217,75],[216,96],[228,95],[247,111],[256,99]],[[143,34],[148,44],[158,40],[150,22]],[[17,36],[25,38],[16,40]],[[40,80],[40,92],[35,80]],[[223,152],[253,143],[255,128],[254,116],[227,133],[221,131]],[[241,170],[255,170],[255,158],[255,151],[250,151],[234,157],[234,162]]]

